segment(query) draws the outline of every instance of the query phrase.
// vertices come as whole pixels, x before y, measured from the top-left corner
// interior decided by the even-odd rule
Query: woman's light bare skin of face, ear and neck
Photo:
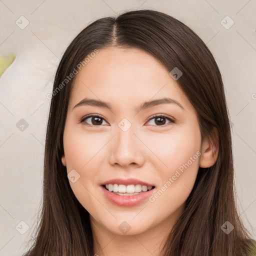
[[[209,139],[201,141],[196,111],[169,71],[140,49],[108,47],[75,76],[62,162],[67,173],[75,169],[80,175],[69,183],[90,213],[94,253],[100,256],[160,255],[161,242],[182,212],[198,167],[215,162],[217,150],[213,152]],[[90,105],[73,108],[85,97],[107,101],[112,110]],[[145,101],[163,97],[178,101],[183,109],[168,103],[136,110]],[[81,122],[88,114],[103,119],[98,125],[91,117]],[[161,124],[152,118],[154,114],[166,114],[175,122],[164,118]],[[118,126],[123,118],[131,124],[127,131]],[[153,202],[121,207],[102,194],[100,184],[116,177],[135,177],[158,190],[198,151],[201,155]],[[118,228],[123,221],[131,227],[126,234]]]

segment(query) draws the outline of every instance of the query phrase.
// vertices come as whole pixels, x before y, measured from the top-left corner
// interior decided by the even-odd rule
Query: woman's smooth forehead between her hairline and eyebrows
[[[84,97],[129,105],[167,96],[186,98],[167,68],[137,48],[99,49],[76,74],[72,86],[71,107]]]

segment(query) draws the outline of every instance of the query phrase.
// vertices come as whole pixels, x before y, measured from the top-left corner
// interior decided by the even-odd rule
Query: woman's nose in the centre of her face
[[[111,139],[110,144],[110,164],[119,164],[122,167],[129,164],[135,164],[137,167],[143,165],[145,160],[143,143],[134,131],[132,125],[126,131],[117,127],[116,135]]]

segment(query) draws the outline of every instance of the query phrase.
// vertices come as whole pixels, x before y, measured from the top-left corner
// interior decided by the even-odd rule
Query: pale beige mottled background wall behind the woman
[[[212,51],[233,123],[237,203],[255,239],[255,7],[255,0],[0,0],[0,55],[17,54],[0,77],[0,255],[21,255],[36,220],[50,103],[46,94],[63,51],[89,22],[137,8],[174,16]],[[15,22],[29,23],[21,29]],[[28,123],[23,131],[16,127],[21,118]]]

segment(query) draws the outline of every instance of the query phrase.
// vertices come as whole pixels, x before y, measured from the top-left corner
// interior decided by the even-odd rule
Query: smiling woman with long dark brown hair
[[[254,255],[221,75],[190,28],[153,10],[100,18],[67,47],[50,97],[26,255]]]

